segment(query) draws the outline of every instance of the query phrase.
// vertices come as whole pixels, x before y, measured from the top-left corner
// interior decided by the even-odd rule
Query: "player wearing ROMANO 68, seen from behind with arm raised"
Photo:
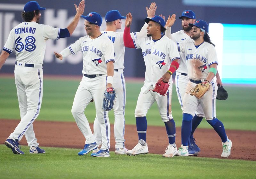
[[[24,154],[20,150],[19,141],[25,134],[30,147],[29,153],[44,153],[38,147],[33,122],[39,115],[43,98],[43,60],[48,39],[57,40],[69,37],[75,30],[80,16],[84,12],[84,0],[76,7],[76,16],[65,29],[40,25],[40,7],[36,1],[29,1],[24,6],[22,18],[24,22],[14,27],[0,55],[0,68],[5,60],[14,52],[16,55],[14,75],[20,107],[21,121],[4,144],[14,154]]]

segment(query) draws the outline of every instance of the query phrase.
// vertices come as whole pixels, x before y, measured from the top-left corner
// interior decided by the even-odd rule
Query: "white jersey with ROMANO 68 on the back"
[[[4,50],[16,54],[16,61],[29,64],[43,64],[46,41],[57,40],[60,29],[37,24],[22,22],[14,27],[4,45]]]

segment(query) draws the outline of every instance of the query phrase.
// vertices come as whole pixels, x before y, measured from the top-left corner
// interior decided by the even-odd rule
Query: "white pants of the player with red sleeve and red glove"
[[[153,86],[150,87],[153,90]],[[144,117],[149,108],[156,101],[160,116],[164,122],[172,119],[172,83],[167,91],[167,95],[159,96],[158,93],[150,90],[148,93],[140,91],[135,109],[135,117]]]

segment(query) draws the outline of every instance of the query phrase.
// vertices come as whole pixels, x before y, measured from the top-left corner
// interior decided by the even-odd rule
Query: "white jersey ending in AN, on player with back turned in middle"
[[[102,34],[107,35],[111,42],[114,44],[115,63],[114,69],[124,69],[124,32],[101,31]],[[132,39],[137,38],[137,34],[130,33]]]

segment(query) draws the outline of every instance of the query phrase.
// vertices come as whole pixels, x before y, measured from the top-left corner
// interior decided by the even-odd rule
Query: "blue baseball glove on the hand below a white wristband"
[[[111,109],[113,109],[115,97],[116,97],[115,89],[107,88],[103,97],[102,108],[104,111],[111,111]]]

